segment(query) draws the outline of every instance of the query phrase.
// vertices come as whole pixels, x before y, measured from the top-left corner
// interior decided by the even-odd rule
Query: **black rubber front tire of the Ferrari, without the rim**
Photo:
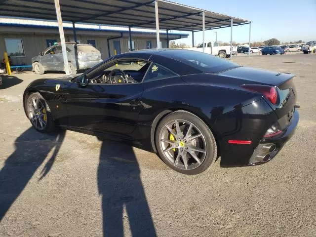
[[[46,114],[46,125],[43,129],[40,129],[39,127],[37,127],[34,122],[32,122],[32,118],[31,118],[31,113],[30,113],[30,103],[33,102],[33,99],[39,100],[40,103],[42,104],[42,106],[45,109],[45,114]],[[28,96],[28,98],[25,100],[25,111],[27,114],[27,117],[30,119],[32,126],[38,130],[41,133],[49,133],[49,132],[53,132],[56,130],[56,126],[53,120],[53,117],[51,115],[51,111],[48,107],[48,104],[46,103],[46,101],[44,100],[44,98],[40,95],[40,93],[36,92],[36,93],[32,93]],[[41,110],[42,111],[42,110]],[[43,113],[43,112],[42,112]]]

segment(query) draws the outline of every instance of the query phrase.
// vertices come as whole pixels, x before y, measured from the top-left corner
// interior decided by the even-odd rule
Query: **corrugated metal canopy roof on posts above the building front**
[[[60,0],[63,21],[156,29],[154,0]],[[158,0],[159,28],[198,31],[249,21],[183,4]],[[56,20],[54,0],[5,0],[0,15]]]

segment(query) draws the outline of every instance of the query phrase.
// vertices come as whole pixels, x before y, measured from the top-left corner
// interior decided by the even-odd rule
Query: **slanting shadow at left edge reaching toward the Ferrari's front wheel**
[[[30,127],[15,140],[15,151],[0,170],[0,221],[48,155],[40,179],[50,171],[64,137],[65,131],[47,135]]]

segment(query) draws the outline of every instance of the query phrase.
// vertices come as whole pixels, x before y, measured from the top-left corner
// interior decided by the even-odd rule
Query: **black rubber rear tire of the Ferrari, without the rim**
[[[175,120],[175,119],[182,119],[186,120],[190,123],[193,123],[200,131],[200,133],[203,135],[203,138],[205,139],[205,144],[206,144],[206,155],[204,160],[199,164],[194,169],[181,169],[175,166],[171,161],[164,155],[163,149],[161,147],[160,143],[160,133],[162,132],[162,129],[165,128],[165,125],[168,124],[170,121]],[[187,112],[187,111],[176,111],[173,113],[168,114],[165,116],[158,124],[156,133],[155,133],[155,142],[156,142],[156,147],[157,151],[159,154],[159,157],[173,170],[183,173],[183,174],[188,174],[188,175],[194,175],[194,174],[199,174],[203,171],[205,171],[212,163],[213,159],[216,158],[217,156],[217,146],[216,146],[216,141],[213,136],[213,133],[209,129],[209,127],[197,116],[194,114]],[[189,144],[188,144],[189,145]],[[182,161],[183,162],[183,161]]]

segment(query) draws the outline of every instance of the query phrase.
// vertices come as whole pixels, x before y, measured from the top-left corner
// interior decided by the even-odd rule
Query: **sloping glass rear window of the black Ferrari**
[[[205,73],[219,73],[231,68],[239,67],[236,63],[222,59],[218,56],[187,49],[166,50],[162,51],[161,54]]]

